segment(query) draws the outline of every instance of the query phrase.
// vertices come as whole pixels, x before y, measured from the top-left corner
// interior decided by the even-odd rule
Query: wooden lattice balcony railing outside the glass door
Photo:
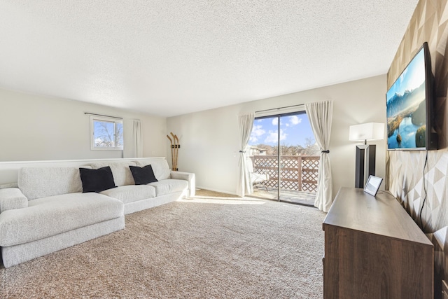
[[[269,174],[267,187],[280,189],[307,191],[315,193],[317,190],[317,175],[319,156],[282,155],[280,157],[280,180],[277,169],[279,161],[276,155],[251,156],[254,172]]]

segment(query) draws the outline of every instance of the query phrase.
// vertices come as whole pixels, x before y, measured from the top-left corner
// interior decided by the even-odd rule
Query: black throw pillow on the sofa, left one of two
[[[83,182],[83,193],[96,192],[116,188],[113,181],[111,167],[101,167],[99,169],[79,169],[81,181]]]

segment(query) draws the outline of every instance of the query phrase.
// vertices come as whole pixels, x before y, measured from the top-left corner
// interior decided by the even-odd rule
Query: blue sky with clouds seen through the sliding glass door
[[[262,118],[253,121],[253,128],[249,145],[267,144],[275,146],[279,136],[279,118]],[[280,144],[287,146],[305,146],[306,139],[310,138],[314,144],[314,134],[309,125],[306,113],[280,118]]]

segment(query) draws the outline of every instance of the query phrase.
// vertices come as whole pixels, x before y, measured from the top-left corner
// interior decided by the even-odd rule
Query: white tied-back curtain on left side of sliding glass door
[[[255,113],[240,114],[239,120],[239,137],[240,137],[240,150],[239,150],[239,176],[237,183],[237,195],[243,197],[246,194],[253,192],[251,179],[246,166],[246,146],[249,138],[251,137],[253,120],[255,119]]]

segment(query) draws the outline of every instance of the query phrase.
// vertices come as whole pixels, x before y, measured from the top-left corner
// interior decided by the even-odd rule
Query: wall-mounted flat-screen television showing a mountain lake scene
[[[425,42],[386,92],[388,150],[437,149],[433,82]]]

